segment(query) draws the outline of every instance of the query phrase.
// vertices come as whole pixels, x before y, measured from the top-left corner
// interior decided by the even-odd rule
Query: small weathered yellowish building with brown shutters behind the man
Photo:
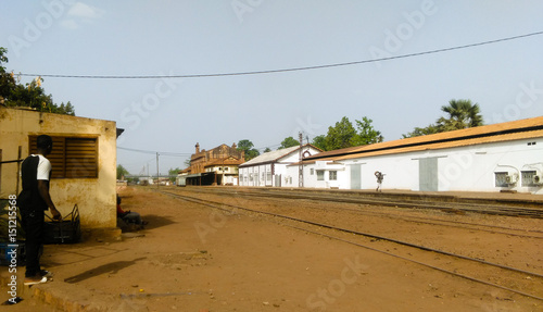
[[[53,139],[51,198],[62,215],[79,209],[81,229],[116,230],[115,122],[0,107],[0,198],[21,192],[20,163],[36,138]]]

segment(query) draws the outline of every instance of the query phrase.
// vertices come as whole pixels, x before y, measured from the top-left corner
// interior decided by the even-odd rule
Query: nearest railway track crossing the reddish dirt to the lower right
[[[280,221],[281,224],[299,230],[351,244],[375,252],[384,253],[390,257],[417,263],[418,265],[440,271],[445,274],[543,301],[543,275],[535,272],[492,263],[477,258],[455,254],[417,244],[374,235],[371,233],[363,233],[321,222],[260,211],[248,208],[240,202],[237,204],[229,204],[179,194],[177,191],[162,190],[161,192],[184,201],[218,209],[225,211],[227,214],[244,211],[247,213],[272,216],[276,221]],[[295,198],[298,199],[298,197]],[[392,252],[390,250],[394,251]],[[465,272],[476,272],[477,274],[473,276],[473,274]]]

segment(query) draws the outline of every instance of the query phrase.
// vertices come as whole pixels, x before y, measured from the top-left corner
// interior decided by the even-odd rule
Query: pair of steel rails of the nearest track
[[[169,191],[165,191],[165,190],[162,190],[161,192],[169,195],[169,196],[173,196],[173,197],[175,197],[177,199],[186,200],[186,201],[189,201],[189,202],[194,202],[194,203],[198,203],[198,204],[211,207],[211,208],[214,208],[214,209],[219,209],[219,210],[227,211],[227,212],[231,212],[231,211],[228,210],[228,209],[225,209],[224,207],[230,207],[230,208],[233,208],[233,209],[240,209],[240,210],[249,211],[249,212],[252,212],[252,213],[258,213],[258,214],[265,214],[265,215],[281,217],[281,219],[286,219],[286,220],[291,220],[291,221],[300,222],[302,224],[310,224],[310,225],[314,225],[314,226],[318,226],[318,227],[323,227],[323,228],[328,228],[328,229],[334,229],[334,230],[339,230],[339,232],[343,232],[343,233],[348,233],[348,234],[354,234],[354,235],[359,235],[359,236],[364,236],[364,237],[375,238],[375,239],[379,239],[379,240],[390,241],[390,242],[394,242],[394,244],[397,244],[397,245],[407,246],[407,247],[415,248],[415,249],[420,249],[420,250],[424,250],[424,251],[435,252],[435,253],[449,255],[449,257],[452,257],[452,258],[463,259],[463,260],[476,262],[476,263],[479,263],[479,264],[490,265],[490,266],[498,267],[498,269],[502,269],[502,270],[507,270],[507,271],[512,271],[512,272],[516,272],[516,273],[522,273],[522,274],[531,275],[531,276],[534,276],[534,277],[543,278],[543,275],[539,274],[539,273],[529,272],[529,271],[525,271],[525,270],[520,270],[520,269],[516,269],[516,267],[512,267],[512,266],[507,266],[507,265],[502,265],[502,264],[497,264],[497,263],[492,263],[492,262],[488,262],[488,261],[484,261],[484,260],[480,260],[480,259],[476,259],[476,258],[470,258],[470,257],[466,257],[466,255],[462,255],[462,254],[455,254],[455,253],[452,253],[452,252],[447,252],[447,251],[443,251],[443,250],[439,250],[439,249],[433,249],[433,248],[429,248],[429,247],[425,247],[425,246],[419,246],[419,245],[411,244],[411,242],[406,242],[406,241],[401,241],[401,240],[393,239],[393,238],[388,238],[388,237],[383,237],[383,236],[372,235],[372,234],[368,234],[368,233],[362,233],[362,232],[357,232],[357,230],[351,230],[351,229],[346,229],[346,228],[342,228],[342,227],[337,227],[337,226],[332,226],[332,225],[328,225],[328,224],[323,224],[323,223],[318,223],[318,222],[302,220],[302,219],[298,219],[298,217],[293,217],[293,216],[288,216],[288,215],[272,213],[272,212],[265,212],[265,211],[258,211],[258,210],[254,210],[254,209],[249,209],[249,208],[244,208],[244,207],[239,207],[239,205],[233,205],[233,204],[228,204],[228,203],[222,203],[222,202],[205,200],[205,199],[195,198],[195,197],[182,196],[182,195],[179,195],[179,194],[169,192]],[[288,225],[288,226],[290,226],[290,225]],[[305,232],[311,232],[308,229],[300,228],[300,227],[295,227],[295,226],[290,226],[290,227],[298,228],[298,229],[305,230]],[[314,232],[311,232],[311,233],[314,233]],[[315,234],[327,236],[327,235],[324,235],[324,234],[320,234],[320,233],[315,233]],[[433,265],[430,265],[430,264],[427,264],[427,263],[424,263],[424,262],[419,262],[419,261],[416,261],[416,260],[413,260],[413,259],[404,258],[404,257],[401,257],[401,255],[397,255],[397,254],[393,254],[393,253],[390,253],[390,252],[387,252],[387,251],[375,249],[375,248],[371,248],[371,247],[368,247],[368,246],[365,246],[365,245],[361,245],[361,244],[357,244],[357,242],[352,242],[352,241],[349,241],[349,240],[344,240],[342,238],[338,238],[338,237],[333,237],[333,236],[327,236],[327,237],[332,238],[332,239],[337,239],[337,240],[340,240],[340,241],[349,242],[349,244],[352,244],[352,245],[356,245],[358,247],[363,247],[363,248],[366,248],[366,249],[369,249],[369,250],[374,250],[374,251],[378,251],[378,252],[386,253],[386,254],[389,254],[389,255],[393,255],[393,257],[396,257],[396,258],[400,258],[400,259],[403,259],[403,260],[406,260],[406,261],[409,261],[409,262],[413,262],[413,263],[417,263],[417,264],[420,264],[420,265],[424,265],[424,266],[427,266],[427,267],[430,267],[430,269],[438,270],[440,272],[452,274],[454,276],[458,276],[458,277],[466,278],[466,279],[469,279],[469,280],[472,280],[472,282],[481,283],[481,284],[484,284],[484,285],[488,285],[488,286],[497,287],[497,288],[501,288],[501,289],[504,289],[504,290],[508,290],[508,291],[512,291],[512,292],[515,292],[515,294],[518,294],[518,295],[522,295],[522,296],[526,296],[526,297],[530,297],[530,298],[543,301],[543,297],[539,297],[539,296],[535,296],[535,295],[527,294],[527,292],[523,292],[523,291],[520,291],[520,290],[516,290],[516,289],[512,289],[512,288],[508,288],[508,287],[505,287],[505,286],[501,286],[501,285],[497,285],[497,284],[489,283],[489,282],[485,282],[485,280],[482,280],[482,279],[470,277],[470,276],[467,276],[467,275],[464,275],[464,274],[459,274],[459,273],[456,273],[456,272],[447,271],[447,270],[444,270],[444,269],[441,269],[441,267],[438,267],[438,266],[433,266]]]

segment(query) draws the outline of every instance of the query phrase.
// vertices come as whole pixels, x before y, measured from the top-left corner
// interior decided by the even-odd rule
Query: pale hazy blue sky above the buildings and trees
[[[543,30],[543,1],[12,1],[0,2],[8,70],[60,75],[191,75],[355,62]],[[321,70],[175,79],[46,77],[54,101],[112,120],[118,146],[190,154],[250,139],[276,149],[348,116],[386,140],[480,104],[488,124],[543,115],[543,35]],[[28,82],[31,77],[24,77]],[[161,172],[185,158],[162,157]],[[155,157],[118,150],[131,173]]]

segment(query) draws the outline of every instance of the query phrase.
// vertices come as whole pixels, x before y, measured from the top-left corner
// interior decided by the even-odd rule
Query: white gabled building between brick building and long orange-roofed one
[[[288,173],[287,166],[303,158],[318,154],[320,149],[305,145],[263,153],[239,166],[240,186],[299,186],[298,172]]]

